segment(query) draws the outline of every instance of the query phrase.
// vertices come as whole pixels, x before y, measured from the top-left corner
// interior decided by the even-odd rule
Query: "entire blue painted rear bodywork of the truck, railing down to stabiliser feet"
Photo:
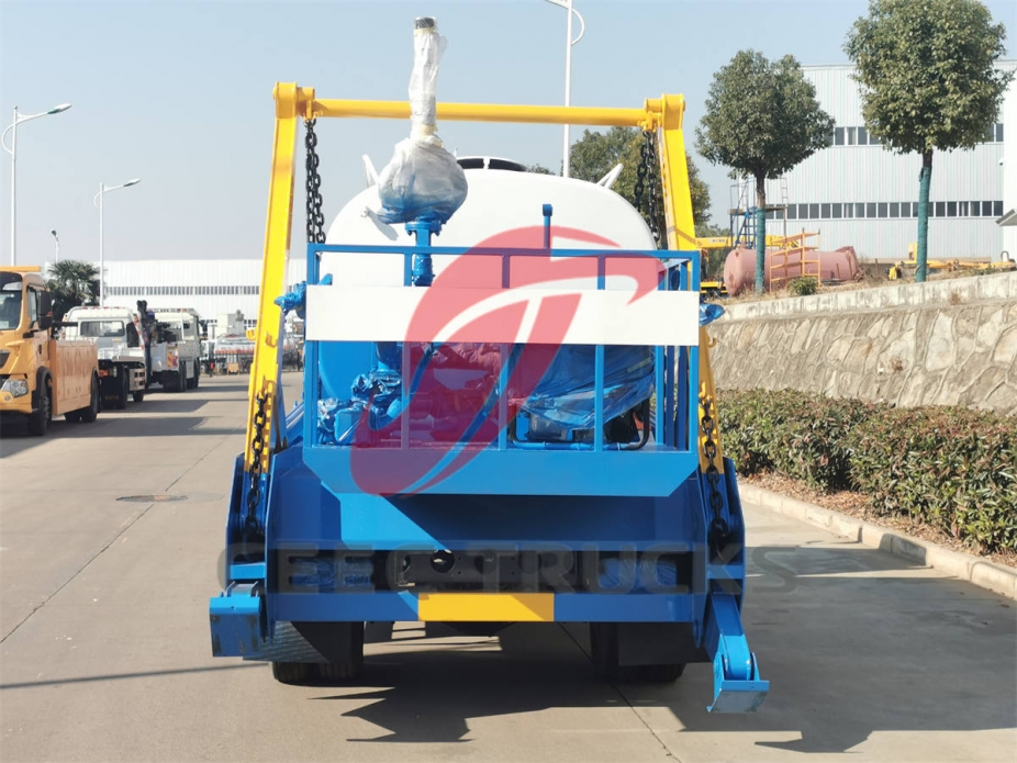
[[[404,285],[411,284],[412,261],[421,255],[501,256],[503,273],[509,271],[510,257],[596,257],[599,289],[605,287],[606,259],[651,256],[667,270],[659,289],[700,290],[697,251],[312,244],[308,246],[311,285],[320,283],[325,253],[401,256]],[[503,288],[507,287],[505,279]],[[213,654],[293,660],[298,658],[288,651],[289,637],[283,636],[293,622],[421,619],[421,590],[392,586],[384,580],[388,573],[377,568],[365,580],[358,553],[398,558],[402,552],[443,549],[574,554],[592,550],[607,560],[633,554],[638,582],[634,584],[632,575],[612,577],[611,573],[592,587],[588,583],[574,591],[555,587],[556,621],[686,624],[691,646],[684,659],[713,662],[709,709],[744,712],[759,706],[769,683],[759,676],[740,620],[745,524],[734,464],[725,459],[718,485],[722,506],[716,513],[701,470],[699,346],[655,348],[655,437],[635,452],[604,442],[605,349],[597,346],[592,445],[584,449],[516,447],[506,434],[502,395],[496,441],[477,448],[472,460],[433,485],[379,495],[364,492],[353,479],[350,458],[357,446],[317,445],[323,344],[305,344],[303,401],[287,416],[286,445],[261,478],[255,523],[264,528],[260,536],[252,537],[244,529],[245,517],[250,520],[244,507],[249,476],[243,457],[237,458],[227,521],[226,587],[210,602]],[[360,346],[359,357],[370,363],[367,349],[372,343],[334,344]],[[507,348],[501,348],[503,359]],[[504,367],[500,390],[505,389]],[[407,351],[403,368],[409,368]],[[405,412],[410,393],[409,385],[402,386]],[[403,426],[401,447],[360,448],[360,455],[377,460],[372,469],[384,469],[393,459],[412,460],[417,456],[407,431]],[[450,453],[461,450],[462,446],[449,448]],[[709,537],[711,524],[720,519],[729,530],[723,552],[711,547]],[[666,566],[661,560],[668,554],[684,560],[680,562],[684,571],[674,573],[677,584],[664,581],[656,587],[653,575]],[[294,557],[298,566],[304,565],[295,575]]]

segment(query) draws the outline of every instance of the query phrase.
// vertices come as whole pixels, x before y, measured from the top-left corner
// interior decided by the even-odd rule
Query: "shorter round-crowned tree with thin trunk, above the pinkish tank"
[[[756,292],[763,290],[767,178],[779,178],[830,143],[834,120],[816,101],[794,56],[769,61],[739,51],[714,75],[696,150],[756,180]]]

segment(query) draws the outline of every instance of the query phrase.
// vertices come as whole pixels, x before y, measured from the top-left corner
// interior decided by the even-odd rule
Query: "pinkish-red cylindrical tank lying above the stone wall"
[[[823,283],[841,283],[860,277],[858,256],[853,246],[842,246],[832,251],[805,250],[805,276],[816,276]],[[803,274],[802,250],[781,251],[767,248],[767,268],[763,287],[770,289],[771,280],[780,288],[787,281]],[[727,293],[736,296],[756,284],[756,250],[738,247],[731,249],[724,261],[724,285]]]

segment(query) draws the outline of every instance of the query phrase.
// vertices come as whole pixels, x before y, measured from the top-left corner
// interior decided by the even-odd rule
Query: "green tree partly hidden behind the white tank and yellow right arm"
[[[606,133],[585,130],[569,150],[569,173],[580,180],[596,182],[615,165],[622,165],[622,173],[611,190],[629,204],[635,204],[644,139],[642,133],[635,127],[612,127]],[[688,154],[685,160],[689,165],[692,217],[696,224],[706,224],[709,222],[709,188],[700,179],[700,172]]]

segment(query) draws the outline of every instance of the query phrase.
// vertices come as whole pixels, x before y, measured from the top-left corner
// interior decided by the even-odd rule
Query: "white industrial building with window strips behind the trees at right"
[[[999,68],[1017,69],[1017,61]],[[918,236],[918,154],[893,154],[874,142],[862,119],[851,66],[803,67],[822,108],[836,121],[831,145],[784,178],[767,182],[768,233],[819,234],[820,249],[853,246],[867,259],[905,259]],[[1007,125],[1007,132],[1004,131]],[[736,204],[755,204],[748,189]],[[972,150],[935,152],[929,195],[929,258],[1017,259],[1017,227],[997,221],[1017,207],[1017,83],[999,121]],[[775,231],[773,228],[776,228]],[[811,242],[812,243],[812,242]]]

